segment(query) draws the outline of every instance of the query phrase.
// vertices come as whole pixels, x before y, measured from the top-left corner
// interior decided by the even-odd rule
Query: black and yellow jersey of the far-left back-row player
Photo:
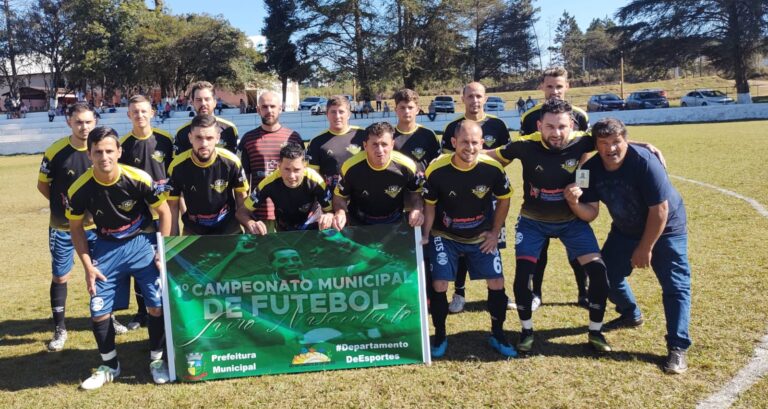
[[[69,137],[57,140],[46,149],[37,180],[51,186],[49,225],[52,228],[69,230],[69,220],[65,216],[67,190],[90,167],[87,149],[75,148],[69,143]],[[92,223],[89,220],[87,224]]]

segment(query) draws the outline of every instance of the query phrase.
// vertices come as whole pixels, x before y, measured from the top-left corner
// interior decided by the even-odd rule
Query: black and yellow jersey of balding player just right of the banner
[[[471,169],[453,165],[453,154],[435,159],[427,168],[424,201],[435,205],[432,235],[463,243],[480,243],[493,228],[493,200],[512,196],[501,164],[479,155]]]

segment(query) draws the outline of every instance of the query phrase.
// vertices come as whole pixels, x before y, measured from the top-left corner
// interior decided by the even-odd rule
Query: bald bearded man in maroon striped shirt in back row
[[[264,178],[278,168],[280,148],[288,143],[304,146],[301,136],[280,124],[283,104],[280,95],[267,91],[259,97],[257,110],[261,126],[248,131],[240,140],[237,151],[250,186],[258,186]],[[254,218],[264,221],[270,232],[275,230],[275,206],[267,199],[253,212]]]

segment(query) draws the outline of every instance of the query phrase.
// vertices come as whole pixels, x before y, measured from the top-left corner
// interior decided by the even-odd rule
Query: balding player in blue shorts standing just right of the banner
[[[484,279],[488,285],[491,347],[505,357],[514,357],[517,351],[504,336],[508,300],[497,248],[512,195],[509,180],[497,161],[482,154],[483,131],[476,122],[457,124],[451,144],[455,153],[432,162],[424,184],[422,243],[429,247],[434,288],[430,303],[435,326],[432,357],[443,356],[448,347],[446,291],[456,277],[462,254],[473,278]]]

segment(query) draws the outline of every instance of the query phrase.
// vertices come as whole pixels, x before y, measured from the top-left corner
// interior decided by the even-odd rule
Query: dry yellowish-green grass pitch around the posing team
[[[665,154],[669,172],[720,186],[768,204],[768,121],[631,127],[631,138]],[[760,131],[763,129],[763,131]],[[687,205],[693,269],[689,371],[668,376],[665,324],[658,283],[650,270],[630,281],[646,317],[635,330],[608,333],[615,352],[597,356],[584,345],[587,313],[576,307],[563,247],[551,246],[544,305],[534,314],[537,345],[524,359],[505,361],[486,346],[485,289],[472,282],[468,310],[448,318],[445,358],[431,367],[280,375],[202,384],[155,386],[147,370],[146,331],[118,337],[123,376],[102,390],[78,390],[99,356],[88,323],[82,269],[69,287],[69,341],[45,352],[49,339],[47,204],[36,192],[39,156],[0,158],[3,285],[0,286],[0,407],[693,407],[744,366],[768,324],[768,219],[747,203],[673,180]],[[509,168],[515,193],[508,225],[520,205],[520,169]],[[595,222],[602,242],[605,208]],[[513,251],[503,251],[507,276]],[[511,280],[507,291],[511,293]],[[126,313],[127,314],[127,313]],[[606,319],[615,313],[609,312]],[[121,316],[123,321],[128,316]],[[505,325],[515,340],[514,314]],[[763,379],[736,403],[768,408]]]

